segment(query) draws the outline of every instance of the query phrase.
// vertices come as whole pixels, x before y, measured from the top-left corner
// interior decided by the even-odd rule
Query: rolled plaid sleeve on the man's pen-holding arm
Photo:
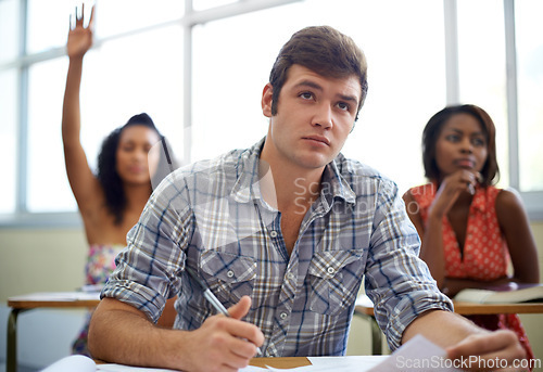
[[[187,195],[173,178],[155,190],[127,234],[127,247],[116,257],[116,268],[102,290],[102,298],[116,298],[157,321],[166,299],[180,288],[184,247],[193,227]]]

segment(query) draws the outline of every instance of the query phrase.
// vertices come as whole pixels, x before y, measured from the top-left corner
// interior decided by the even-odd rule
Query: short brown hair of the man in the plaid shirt
[[[272,95],[272,115],[277,114],[277,102],[290,66],[298,64],[315,73],[332,78],[356,75],[361,82],[361,102],[358,112],[366,99],[367,62],[366,56],[349,36],[330,26],[306,27],[290,38],[281,48],[272,72],[269,82],[274,89]]]

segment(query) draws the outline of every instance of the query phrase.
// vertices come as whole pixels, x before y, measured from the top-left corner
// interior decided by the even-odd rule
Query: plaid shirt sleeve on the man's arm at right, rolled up
[[[453,311],[426,264],[418,257],[420,239],[411,222],[395,183],[383,180],[378,190],[365,287],[375,317],[391,350],[418,316],[431,309]]]

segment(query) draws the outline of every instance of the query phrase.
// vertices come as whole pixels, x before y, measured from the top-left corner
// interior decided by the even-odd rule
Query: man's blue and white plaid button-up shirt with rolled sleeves
[[[229,307],[252,298],[244,318],[265,336],[265,356],[338,356],[365,290],[392,349],[429,309],[452,310],[418,258],[419,239],[394,182],[341,154],[325,168],[289,256],[281,214],[258,187],[263,141],[171,175],[155,190],[117,256],[102,296],[156,321],[178,296],[175,328],[216,313],[185,271],[192,268]]]

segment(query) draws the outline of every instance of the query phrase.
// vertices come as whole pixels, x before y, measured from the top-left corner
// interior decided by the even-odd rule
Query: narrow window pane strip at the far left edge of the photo
[[[0,2],[1,4],[1,2]],[[17,70],[0,73],[0,159],[2,181],[0,182],[0,214],[15,211],[15,185],[17,165]]]

